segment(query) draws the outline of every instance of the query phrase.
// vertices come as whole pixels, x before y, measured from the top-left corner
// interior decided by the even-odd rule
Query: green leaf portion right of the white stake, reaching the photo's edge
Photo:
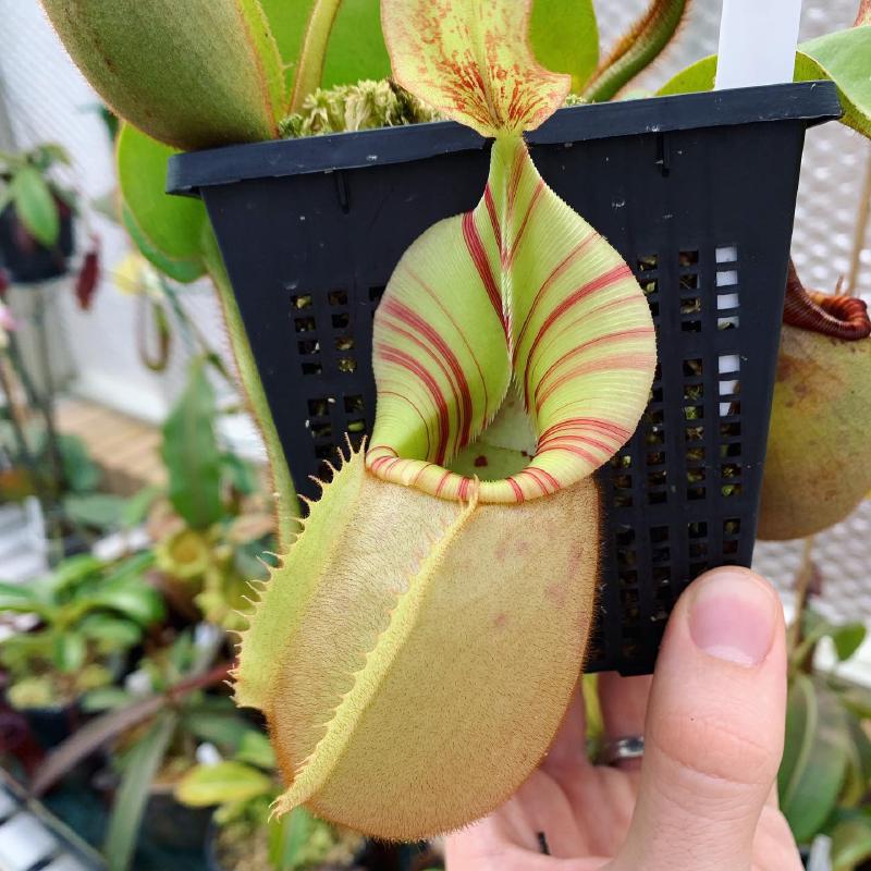
[[[844,107],[844,123],[871,136],[871,26],[852,27],[799,46],[796,81],[831,78]]]

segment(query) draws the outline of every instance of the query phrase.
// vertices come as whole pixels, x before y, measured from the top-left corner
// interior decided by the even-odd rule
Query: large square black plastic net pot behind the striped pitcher
[[[652,668],[695,576],[749,565],[805,132],[831,83],[563,109],[529,136],[551,187],[635,267],[659,334],[648,414],[602,474],[588,668]],[[181,155],[203,197],[300,491],[375,417],[371,320],[408,245],[468,210],[488,148],[452,123]]]

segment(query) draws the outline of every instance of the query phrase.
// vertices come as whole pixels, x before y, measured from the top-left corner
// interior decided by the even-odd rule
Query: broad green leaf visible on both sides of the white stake
[[[871,136],[871,26],[811,39],[796,54],[796,82],[830,78],[837,85],[844,107],[843,122]],[[679,72],[658,91],[660,96],[711,90],[716,77],[716,57],[704,58]]]

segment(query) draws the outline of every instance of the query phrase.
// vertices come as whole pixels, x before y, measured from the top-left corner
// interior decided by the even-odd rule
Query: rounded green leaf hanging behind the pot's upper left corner
[[[201,258],[206,207],[199,199],[165,193],[167,162],[173,154],[175,149],[123,124],[116,155],[121,195],[154,247],[171,260],[196,260]]]

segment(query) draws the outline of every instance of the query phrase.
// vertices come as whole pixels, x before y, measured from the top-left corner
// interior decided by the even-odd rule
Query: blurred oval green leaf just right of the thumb
[[[822,683],[797,675],[789,689],[778,786],[781,809],[800,844],[813,839],[837,805],[848,740],[837,698]]]

